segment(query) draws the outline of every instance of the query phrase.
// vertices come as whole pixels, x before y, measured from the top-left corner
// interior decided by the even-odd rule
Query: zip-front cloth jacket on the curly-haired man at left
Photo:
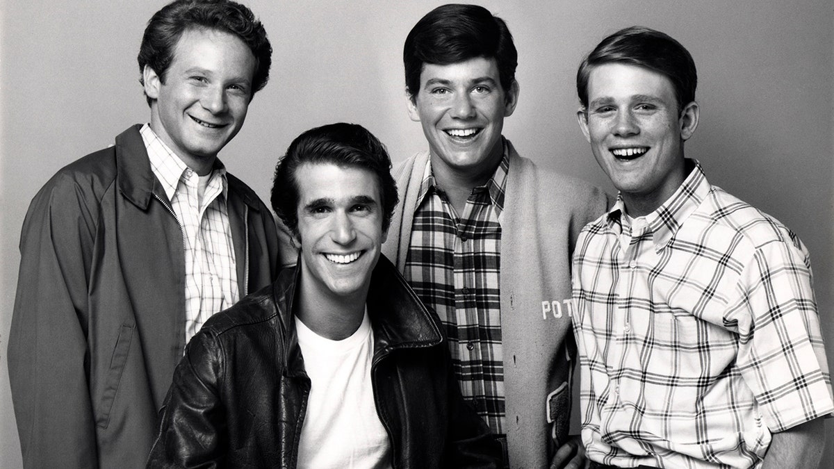
[[[8,370],[25,467],[143,466],[183,356],[183,234],[138,129],[58,171],[23,223]],[[278,239],[228,182],[243,296],[274,280]]]

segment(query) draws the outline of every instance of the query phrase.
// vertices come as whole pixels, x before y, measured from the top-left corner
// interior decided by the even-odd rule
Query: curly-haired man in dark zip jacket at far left
[[[33,199],[8,341],[24,467],[143,467],[188,338],[274,279],[269,208],[217,158],[271,54],[239,3],[168,4],[138,54],[149,124]]]

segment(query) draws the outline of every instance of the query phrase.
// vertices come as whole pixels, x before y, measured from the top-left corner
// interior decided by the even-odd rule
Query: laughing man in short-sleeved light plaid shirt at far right
[[[576,81],[580,127],[620,191],[574,256],[591,467],[818,466],[834,402],[808,253],[684,158],[691,55],[625,28]]]

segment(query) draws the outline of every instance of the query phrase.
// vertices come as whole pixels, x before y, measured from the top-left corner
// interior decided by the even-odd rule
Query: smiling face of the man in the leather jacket
[[[385,240],[379,180],[366,169],[305,163],[294,181],[305,295],[364,305]]]

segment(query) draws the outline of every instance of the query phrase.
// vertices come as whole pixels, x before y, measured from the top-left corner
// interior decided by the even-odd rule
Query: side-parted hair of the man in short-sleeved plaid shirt
[[[602,40],[582,61],[576,72],[576,92],[588,108],[588,79],[595,67],[625,63],[648,68],[669,78],[675,88],[678,112],[695,101],[698,73],[689,51],[666,33],[644,26],[620,29]]]

